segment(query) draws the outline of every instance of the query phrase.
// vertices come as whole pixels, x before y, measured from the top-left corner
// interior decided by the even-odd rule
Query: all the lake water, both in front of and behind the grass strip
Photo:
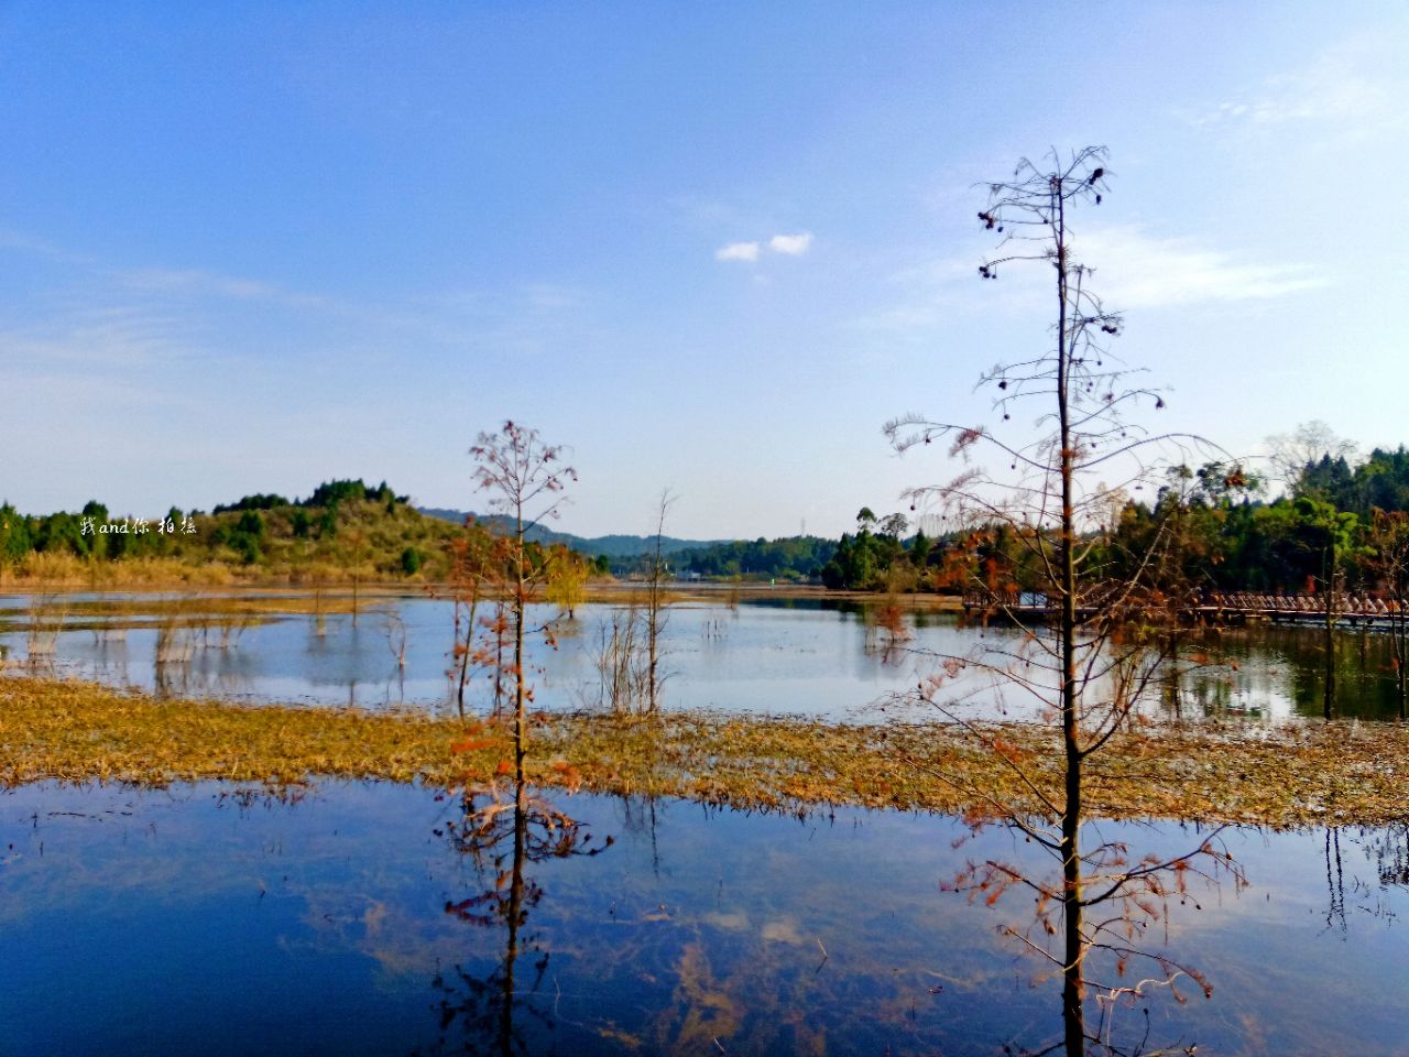
[[[452,707],[444,602],[382,599],[355,624],[235,619],[217,603],[209,622],[190,607],[173,619],[159,596],[48,603],[0,598],[10,668],[314,707]],[[593,643],[610,617],[585,607],[558,624],[558,650],[535,645],[540,706],[595,702]],[[403,629],[404,669],[389,645]],[[665,700],[879,720],[892,713],[874,703],[941,655],[979,634],[1019,641],[952,617],[910,617],[909,630],[890,643],[864,612],[817,602],[678,606]],[[1230,630],[1220,653],[1236,667],[1186,672],[1153,707],[1319,716],[1319,645],[1315,631]],[[1343,713],[1394,713],[1382,638],[1341,637],[1336,662]],[[985,715],[1026,715],[969,688]],[[472,703],[486,699],[480,681]],[[879,1057],[1036,1053],[1061,1037],[1058,981],[1000,932],[1034,923],[1030,899],[986,906],[943,888],[968,860],[1050,872],[1002,827],[606,796],[554,806],[581,823],[576,843],[516,833],[513,812],[473,837],[457,798],[387,784],[327,781],[285,798],[228,784],[0,791],[0,1053]],[[1098,834],[1133,857],[1209,836],[1093,822]],[[1212,998],[1185,978],[1185,1003],[1155,989],[1113,1006],[1112,1041],[1409,1053],[1409,830],[1216,840],[1247,885],[1193,882],[1137,944],[1200,971]]]

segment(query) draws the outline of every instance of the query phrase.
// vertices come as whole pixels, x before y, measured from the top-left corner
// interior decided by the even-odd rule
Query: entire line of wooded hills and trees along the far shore
[[[1265,482],[1236,465],[1178,466],[1151,499],[1117,497],[1113,521],[1088,528],[1109,565],[1143,552],[1150,534],[1178,533],[1175,562],[1198,589],[1302,592],[1324,578],[1329,550],[1346,589],[1377,591],[1409,541],[1409,451],[1377,448],[1364,461],[1323,452],[1292,471],[1285,495],[1265,499]],[[385,482],[328,481],[304,499],[244,496],[211,513],[172,507],[161,517],[118,516],[93,500],[77,513],[23,514],[0,506],[0,571],[7,576],[134,582],[183,578],[302,582],[349,578],[441,579],[447,547],[466,514],[418,510]],[[488,516],[471,533],[504,528]],[[535,527],[540,548],[593,558],[597,574],[635,575],[655,548],[650,536],[579,537]],[[1030,548],[1010,528],[969,526],[934,538],[912,531],[906,514],[862,507],[857,530],[828,540],[692,541],[661,538],[676,576],[772,579],[854,591],[958,593],[1026,569]],[[1024,571],[1026,569],[1026,571]],[[1398,575],[1398,574],[1395,574]]]

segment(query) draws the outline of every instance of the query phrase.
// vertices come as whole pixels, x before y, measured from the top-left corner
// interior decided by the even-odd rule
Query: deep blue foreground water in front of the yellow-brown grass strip
[[[592,834],[579,848],[612,844],[526,854],[510,908],[513,840],[476,860],[455,801],[424,789],[3,793],[3,1049],[899,1056],[1060,1037],[1055,981],[998,934],[1030,906],[940,891],[964,857],[1023,861],[1003,830],[955,850],[965,830],[943,817],[559,806]],[[1103,832],[1153,851],[1203,836]],[[1409,1051],[1403,830],[1223,840],[1248,886],[1195,885],[1147,936],[1213,996],[1185,982],[1186,1005],[1119,1008],[1113,1039]]]

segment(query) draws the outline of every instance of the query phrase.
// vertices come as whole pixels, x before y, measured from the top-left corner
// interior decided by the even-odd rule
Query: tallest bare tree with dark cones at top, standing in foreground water
[[[1158,686],[1177,641],[1158,630],[1179,617],[1168,592],[1151,582],[1169,533],[1162,527],[1153,533],[1148,552],[1113,555],[1102,545],[1106,534],[1100,527],[1110,517],[1112,492],[1154,490],[1161,476],[1158,457],[1168,454],[1162,450],[1195,440],[1157,435],[1127,417],[1141,403],[1160,409],[1164,400],[1112,354],[1110,341],[1124,323],[1092,289],[1093,271],[1076,259],[1071,225],[1076,207],[1102,202],[1107,178],[1105,148],[1088,147],[1065,158],[1053,151],[1041,163],[1023,159],[1010,180],[989,185],[988,207],[978,218],[1000,245],[999,254],[979,266],[979,278],[996,280],[1009,265],[1026,262],[1051,268],[1054,344],[981,376],[979,386],[995,392],[998,421],[992,430],[919,414],[886,426],[898,451],[944,438],[951,443],[951,457],[962,455],[965,462],[985,448],[1003,461],[1009,472],[1000,478],[969,465],[945,485],[906,495],[912,509],[944,509],[969,533],[975,552],[981,541],[999,536],[1003,545],[1016,548],[1010,575],[1027,582],[995,589],[974,567],[974,586],[986,593],[988,616],[1006,614],[1017,626],[1016,605],[1024,596],[1045,602],[1053,613],[1045,630],[1026,633],[1016,647],[985,640],[975,654],[945,658],[944,672],[917,696],[1003,760],[1026,803],[1040,805],[1034,815],[1019,806],[1017,798],[1005,801],[978,789],[962,774],[941,775],[985,803],[986,816],[1017,827],[1057,861],[1055,879],[991,860],[971,864],[958,884],[982,888],[989,902],[1013,886],[1036,895],[1034,929],[1009,933],[1050,958],[1062,975],[1068,1057],[1085,1053],[1088,1041],[1099,1041],[1099,1032],[1086,1023],[1088,988],[1098,988],[1102,998],[1131,991],[1115,977],[1098,977],[1088,965],[1092,951],[1102,951],[1120,971],[1130,958],[1150,957],[1158,968],[1153,979],[1172,985],[1186,975],[1206,989],[1196,972],[1164,956],[1146,954],[1137,940],[1160,902],[1182,885],[1195,855],[1227,863],[1213,841],[1200,843],[1189,855],[1147,858],[1136,865],[1120,843],[1099,833],[1089,846],[1082,840],[1088,761]],[[1010,424],[1013,413],[1026,409],[1037,416],[1036,437]],[[1110,481],[1116,483],[1103,483]],[[965,668],[989,674],[1000,692],[1027,695],[1054,716],[1061,744],[1055,786],[1000,734],[971,719],[961,700],[945,696],[947,678]],[[1093,908],[1100,912],[1088,915]],[[1048,947],[1048,936],[1060,936],[1058,950]],[[1150,984],[1147,979],[1134,989]]]

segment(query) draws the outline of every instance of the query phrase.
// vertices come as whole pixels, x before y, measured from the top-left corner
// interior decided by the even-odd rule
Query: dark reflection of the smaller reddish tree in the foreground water
[[[551,953],[537,933],[527,932],[528,915],[544,889],[526,870],[550,860],[599,855],[613,839],[592,847],[592,834],[582,823],[521,782],[468,791],[461,806],[462,817],[440,832],[458,854],[473,861],[485,886],[478,895],[445,903],[445,913],[476,927],[502,927],[504,946],[488,975],[464,964],[437,971],[431,981],[441,995],[435,1053],[527,1054],[526,1027],[537,1023],[551,1030],[554,1022],[538,1001],[547,998],[542,982]],[[521,960],[528,961],[527,974]]]

